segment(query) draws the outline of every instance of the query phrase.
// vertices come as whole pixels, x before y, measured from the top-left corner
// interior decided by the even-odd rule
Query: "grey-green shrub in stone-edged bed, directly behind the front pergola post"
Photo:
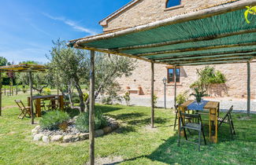
[[[95,130],[106,127],[106,118],[100,109],[95,109]],[[76,129],[80,132],[89,132],[89,112],[80,113],[76,119]]]

